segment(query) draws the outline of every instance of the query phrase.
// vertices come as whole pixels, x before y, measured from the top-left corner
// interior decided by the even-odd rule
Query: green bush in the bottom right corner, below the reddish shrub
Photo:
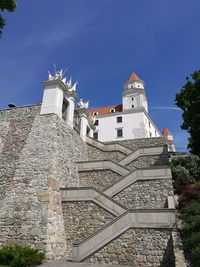
[[[200,204],[189,205],[180,217],[186,249],[191,254],[193,266],[200,266]]]

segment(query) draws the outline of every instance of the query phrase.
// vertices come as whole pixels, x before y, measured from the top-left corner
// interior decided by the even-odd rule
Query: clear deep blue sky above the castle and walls
[[[149,113],[186,148],[176,92],[199,68],[199,0],[18,0],[0,39],[0,107],[42,98],[47,70],[68,68],[91,107],[121,103],[131,72],[145,81]],[[164,108],[162,108],[164,107]]]

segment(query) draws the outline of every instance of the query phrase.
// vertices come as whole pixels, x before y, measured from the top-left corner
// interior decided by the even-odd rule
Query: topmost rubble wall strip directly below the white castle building
[[[105,144],[112,144],[112,143],[116,143],[116,142],[106,142]],[[118,141],[117,143],[133,151],[137,150],[140,147],[165,145],[165,141],[163,137],[139,138],[139,139]]]

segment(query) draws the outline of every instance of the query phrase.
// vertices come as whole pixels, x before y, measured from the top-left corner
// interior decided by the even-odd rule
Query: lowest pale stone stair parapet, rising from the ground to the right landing
[[[80,243],[73,244],[72,260],[83,261],[130,228],[172,229],[175,209],[131,209]]]

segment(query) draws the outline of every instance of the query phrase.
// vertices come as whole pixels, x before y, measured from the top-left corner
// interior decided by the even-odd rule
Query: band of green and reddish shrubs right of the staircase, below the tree
[[[180,194],[183,241],[192,266],[200,266],[200,158],[187,156],[171,161],[174,190]]]

